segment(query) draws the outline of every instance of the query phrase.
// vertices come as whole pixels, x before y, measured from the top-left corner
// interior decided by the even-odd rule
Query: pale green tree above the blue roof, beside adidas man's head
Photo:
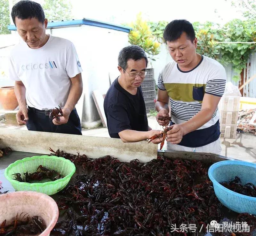
[[[42,5],[48,22],[72,20],[72,4],[69,0],[45,0]]]

